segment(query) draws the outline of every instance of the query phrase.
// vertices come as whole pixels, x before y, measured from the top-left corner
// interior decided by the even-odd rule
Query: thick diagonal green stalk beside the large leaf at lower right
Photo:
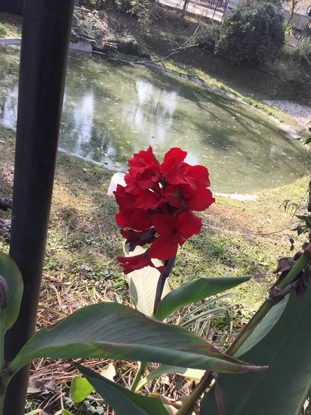
[[[277,288],[282,290],[288,284],[294,281],[294,279],[301,273],[303,268],[309,264],[311,260],[311,243],[305,248],[303,255],[299,258],[293,268],[290,270],[288,275],[280,282]],[[278,304],[281,300],[280,299],[266,299],[263,305],[258,309],[257,313],[252,317],[252,319],[248,322],[248,324],[243,328],[240,334],[236,337],[234,342],[230,345],[230,347],[225,352],[227,356],[234,356],[236,351],[240,349],[242,344],[249,338],[249,335],[252,334],[254,329],[258,326],[258,324],[265,318],[267,313],[271,310],[273,306]],[[200,383],[194,389],[191,396],[186,400],[184,405],[179,409],[176,415],[189,415],[191,414],[191,409],[193,409],[196,400],[200,398],[200,396],[205,392],[207,387],[209,386],[212,379],[212,372],[206,371]]]

